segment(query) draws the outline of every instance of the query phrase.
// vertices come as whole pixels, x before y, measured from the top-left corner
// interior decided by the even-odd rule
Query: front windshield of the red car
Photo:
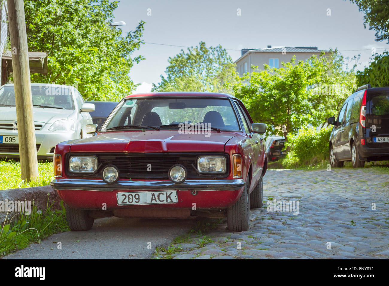
[[[102,130],[117,126],[167,126],[201,124],[220,130],[239,131],[230,100],[218,98],[138,98],[126,99],[102,126]]]

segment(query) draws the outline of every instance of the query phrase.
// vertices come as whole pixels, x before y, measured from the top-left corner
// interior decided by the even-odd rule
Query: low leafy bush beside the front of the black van
[[[312,127],[301,128],[297,135],[289,137],[285,147],[290,151],[282,161],[286,168],[299,165],[317,165],[328,157],[328,142],[332,126],[316,130]]]

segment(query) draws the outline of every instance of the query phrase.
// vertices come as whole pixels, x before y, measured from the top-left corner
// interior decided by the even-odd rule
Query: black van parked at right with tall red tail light
[[[344,161],[357,168],[365,161],[389,160],[389,87],[357,88],[327,122],[335,125],[329,137],[332,167],[342,167]]]

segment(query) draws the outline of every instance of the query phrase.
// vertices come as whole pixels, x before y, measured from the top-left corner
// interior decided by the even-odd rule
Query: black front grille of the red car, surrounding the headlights
[[[68,156],[75,155],[69,154]],[[168,172],[169,169],[175,165],[180,164],[183,165],[187,170],[187,178],[195,179],[195,178],[204,178],[204,177],[226,177],[227,174],[212,174],[212,175],[202,175],[198,174],[195,170],[197,167],[197,157],[200,155],[223,155],[226,156],[226,170],[229,170],[228,167],[228,156],[226,154],[221,153],[163,153],[163,154],[91,154],[98,157],[98,163],[100,168],[98,172],[96,172],[96,177],[100,176],[101,170],[106,165],[115,165],[120,172],[121,178],[127,179],[169,179]],[[192,166],[193,164],[193,166]],[[151,170],[150,170],[151,167]],[[148,171],[149,168],[149,171]],[[76,175],[76,174],[70,174]]]

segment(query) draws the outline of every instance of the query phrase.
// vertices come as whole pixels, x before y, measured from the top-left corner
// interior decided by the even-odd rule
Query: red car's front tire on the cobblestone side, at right
[[[250,195],[249,178],[247,178],[244,190],[235,205],[227,209],[227,226],[234,232],[242,232],[249,229],[250,224]]]

